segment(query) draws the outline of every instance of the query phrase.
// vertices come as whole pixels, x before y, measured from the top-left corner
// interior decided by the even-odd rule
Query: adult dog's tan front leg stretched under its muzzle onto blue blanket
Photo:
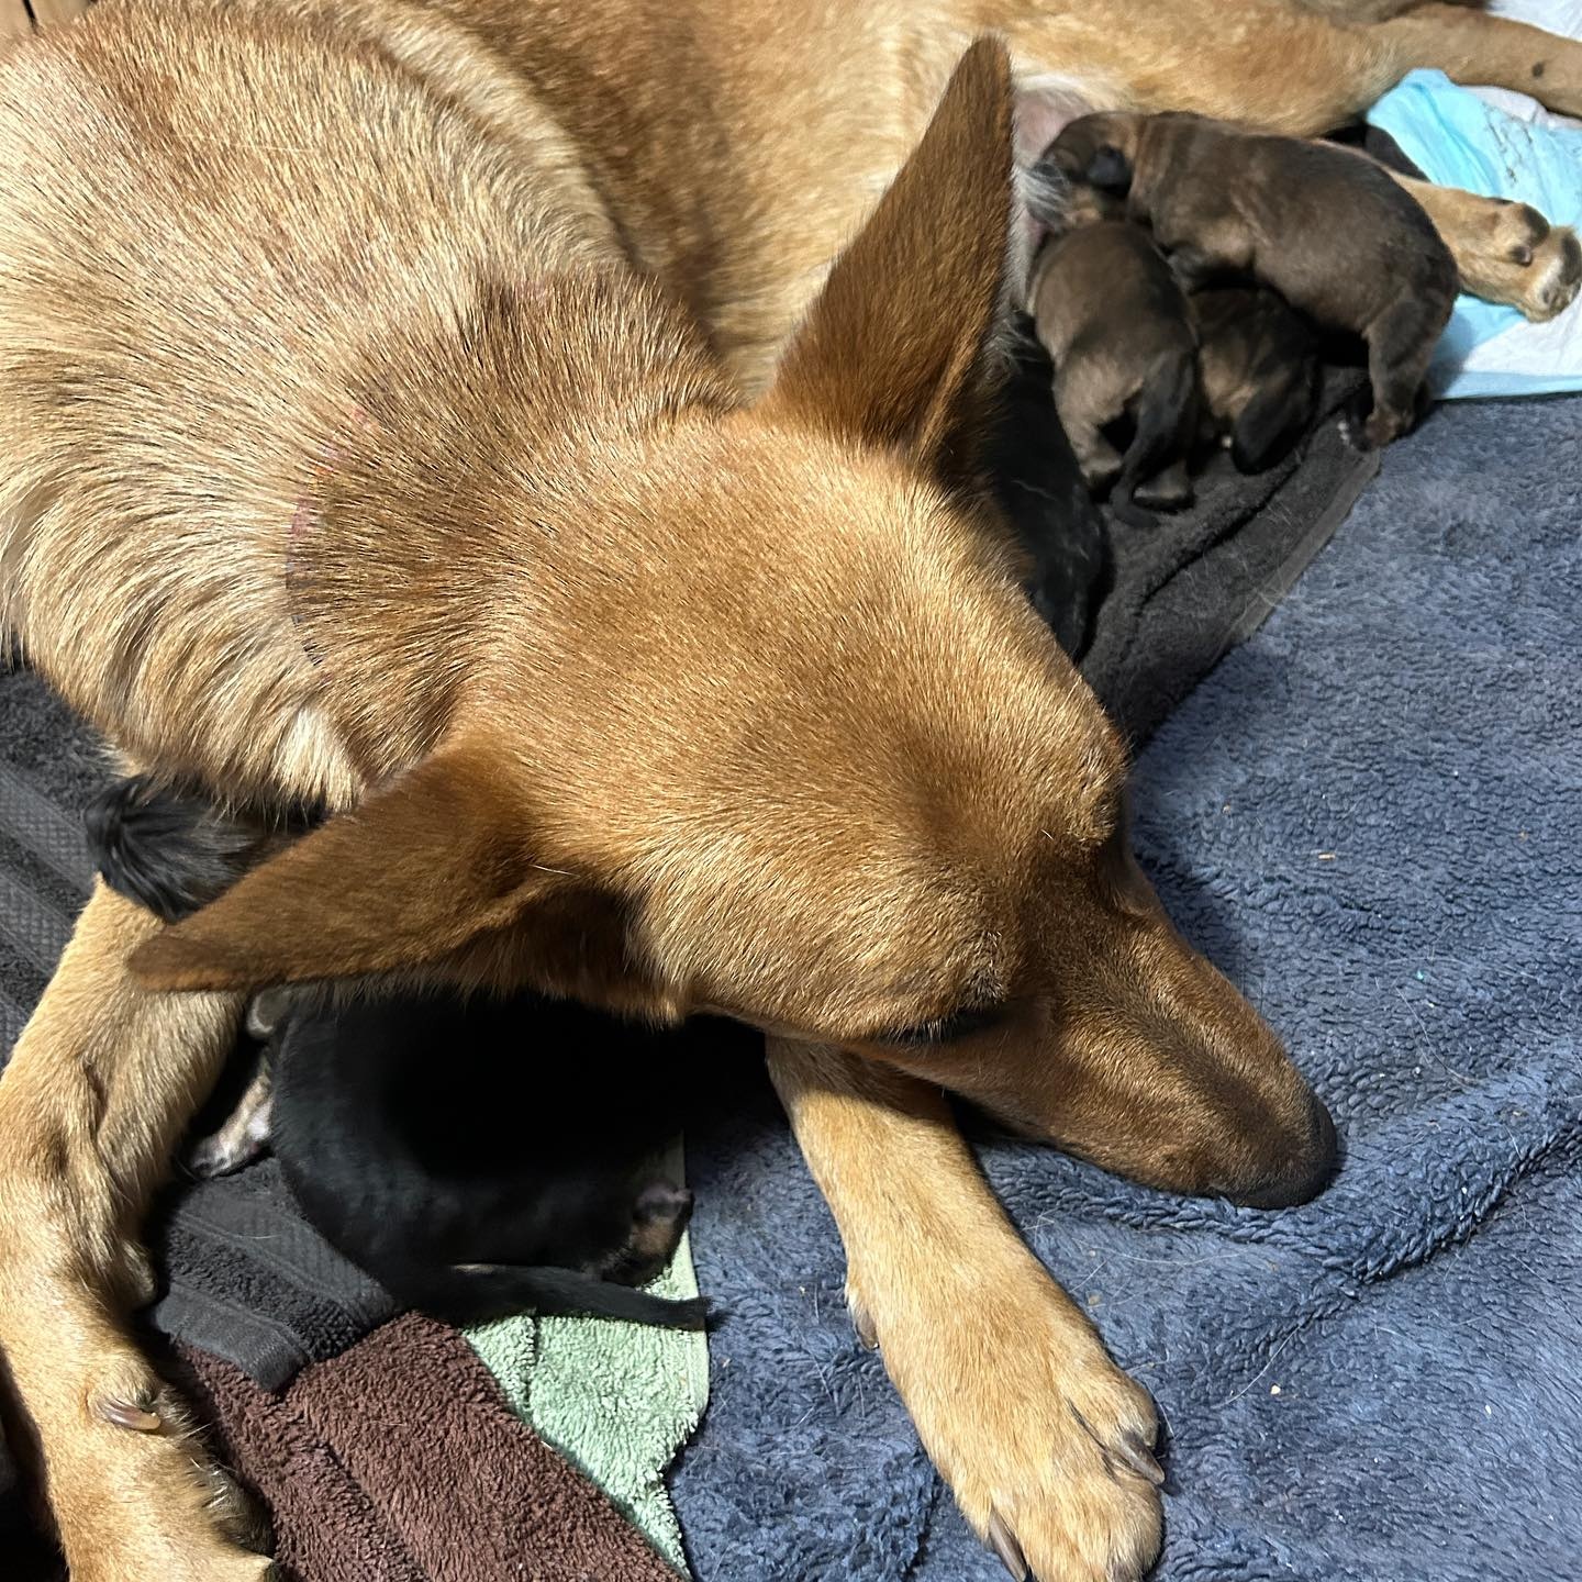
[[[1160,1546],[1153,1403],[1005,1218],[938,1090],[770,1039],[846,1248],[846,1297],[1012,1576],[1131,1582]]]

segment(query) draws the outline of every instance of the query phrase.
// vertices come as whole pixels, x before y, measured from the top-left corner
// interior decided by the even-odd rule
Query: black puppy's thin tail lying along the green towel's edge
[[[709,1319],[704,1297],[653,1296],[576,1269],[528,1264],[429,1269],[422,1291],[397,1291],[392,1286],[391,1294],[449,1324],[484,1324],[527,1311],[625,1318],[633,1324],[663,1324],[669,1329],[702,1329]]]

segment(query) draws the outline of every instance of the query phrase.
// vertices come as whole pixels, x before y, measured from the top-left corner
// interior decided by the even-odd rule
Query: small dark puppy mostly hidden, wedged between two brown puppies
[[[1274,467],[1318,411],[1313,326],[1267,286],[1224,286],[1188,299],[1198,326],[1204,430],[1239,471]]]

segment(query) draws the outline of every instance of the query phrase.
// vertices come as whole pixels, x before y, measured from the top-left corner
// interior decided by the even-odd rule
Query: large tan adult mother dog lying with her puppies
[[[0,59],[6,623],[146,767],[361,804],[169,935],[98,892],[0,1082],[0,1345],[79,1582],[266,1569],[128,1338],[142,1207],[245,986],[418,963],[769,1028],[968,1519],[1017,1574],[1149,1563],[1152,1406],[940,1088],[1245,1201],[1332,1136],[1131,862],[978,505],[1003,57],[929,117],[986,28],[1038,146],[1074,103],[1316,133],[1413,65],[1582,109],[1582,49],[1476,13],[1226,13],[171,0]],[[1565,234],[1427,201],[1476,290],[1574,294]]]

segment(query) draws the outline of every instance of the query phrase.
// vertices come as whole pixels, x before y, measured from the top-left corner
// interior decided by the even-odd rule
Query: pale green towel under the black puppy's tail
[[[649,1289],[671,1297],[698,1294],[685,1236]],[[664,1470],[709,1402],[704,1332],[617,1318],[527,1315],[478,1324],[465,1335],[513,1410],[576,1462],[688,1576]]]

